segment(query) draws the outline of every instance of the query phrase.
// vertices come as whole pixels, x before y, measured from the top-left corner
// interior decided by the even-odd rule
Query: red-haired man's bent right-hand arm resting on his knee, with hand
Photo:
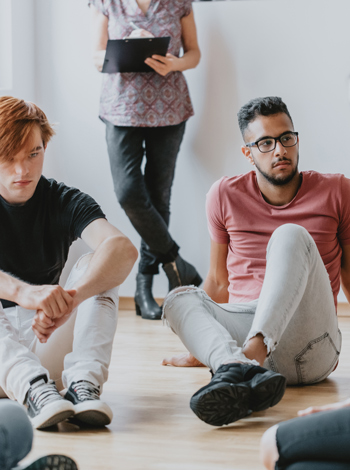
[[[73,286],[72,309],[64,316],[53,319],[48,319],[40,310],[35,315],[33,330],[41,342],[46,342],[81,302],[122,284],[137,259],[138,253],[131,241],[105,219],[91,222],[81,238],[94,253],[84,275]]]

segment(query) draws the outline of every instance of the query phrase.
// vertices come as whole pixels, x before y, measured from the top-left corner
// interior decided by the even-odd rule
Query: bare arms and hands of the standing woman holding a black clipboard
[[[93,61],[99,72],[102,70],[106,47],[108,41],[108,18],[96,9],[90,6],[93,27]],[[181,19],[182,41],[184,55],[175,57],[167,54],[165,57],[154,55],[146,59],[146,64],[152,67],[160,75],[167,75],[169,72],[184,71],[196,67],[200,60],[200,50],[197,41],[197,30],[194,22],[193,11]],[[129,37],[151,37],[149,31],[144,29],[134,30]]]

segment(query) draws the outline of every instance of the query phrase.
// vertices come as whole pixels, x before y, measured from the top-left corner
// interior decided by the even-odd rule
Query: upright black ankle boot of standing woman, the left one
[[[138,273],[136,276],[135,307],[136,315],[147,320],[160,320],[162,308],[152,295],[153,274]]]

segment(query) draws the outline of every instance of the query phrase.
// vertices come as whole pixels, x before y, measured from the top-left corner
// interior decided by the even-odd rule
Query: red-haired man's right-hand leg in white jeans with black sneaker
[[[66,289],[72,288],[83,275],[91,256],[87,254],[78,260]],[[109,424],[113,416],[110,407],[100,400],[100,394],[108,378],[118,303],[118,287],[90,297],[46,344],[37,341],[34,351],[56,378],[58,388],[68,389],[64,397],[73,403],[75,417],[95,426]]]

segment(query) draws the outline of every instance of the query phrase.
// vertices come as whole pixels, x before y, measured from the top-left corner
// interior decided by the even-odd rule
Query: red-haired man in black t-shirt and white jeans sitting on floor
[[[112,411],[99,396],[117,286],[137,250],[90,196],[42,175],[53,134],[35,104],[0,97],[0,397],[25,403],[36,428],[73,415],[105,425]],[[62,288],[69,247],[79,237],[93,253]]]

